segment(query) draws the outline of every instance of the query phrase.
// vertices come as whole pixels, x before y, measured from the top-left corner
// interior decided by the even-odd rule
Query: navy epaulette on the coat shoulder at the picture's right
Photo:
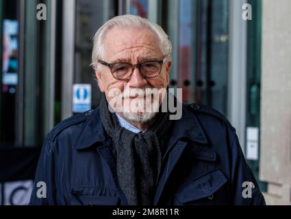
[[[227,120],[227,118],[220,113],[218,110],[215,110],[212,107],[208,107],[206,105],[202,105],[202,104],[197,104],[197,103],[190,103],[187,105],[190,110],[197,112],[197,113],[201,113],[201,114],[208,114],[210,116],[214,116],[215,118],[218,118],[219,120],[221,120],[223,123],[226,123],[227,126],[229,126],[229,128],[235,130],[231,123],[229,122],[229,120]]]

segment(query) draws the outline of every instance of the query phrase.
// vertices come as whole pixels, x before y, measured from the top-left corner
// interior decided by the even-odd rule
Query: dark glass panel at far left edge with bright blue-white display
[[[19,54],[19,2],[3,1],[2,10],[2,67],[1,67],[1,128],[0,142],[13,145],[17,135],[17,93]]]

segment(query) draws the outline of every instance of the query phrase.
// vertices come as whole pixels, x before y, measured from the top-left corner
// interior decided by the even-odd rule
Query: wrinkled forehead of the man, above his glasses
[[[147,27],[113,27],[105,34],[103,43],[105,59],[110,62],[116,59],[161,58],[163,55],[160,39]]]

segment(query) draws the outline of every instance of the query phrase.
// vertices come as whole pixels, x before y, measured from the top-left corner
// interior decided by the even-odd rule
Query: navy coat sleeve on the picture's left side
[[[36,168],[29,205],[57,205],[54,142],[45,140]]]

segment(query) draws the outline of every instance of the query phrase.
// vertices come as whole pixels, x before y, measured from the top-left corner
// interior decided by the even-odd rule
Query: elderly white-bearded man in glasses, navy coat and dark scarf
[[[265,204],[227,119],[170,101],[170,53],[162,28],[139,16],[97,31],[92,66],[103,99],[49,132],[31,205]],[[171,119],[171,104],[181,116]]]

